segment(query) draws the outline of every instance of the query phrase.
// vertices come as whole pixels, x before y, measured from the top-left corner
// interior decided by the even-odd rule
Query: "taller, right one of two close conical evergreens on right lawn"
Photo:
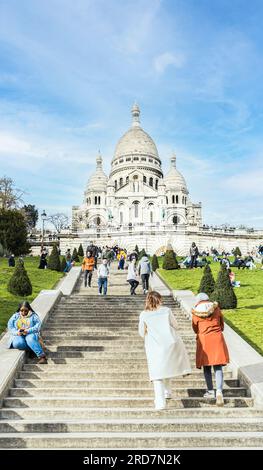
[[[229,279],[229,273],[225,263],[221,265],[217,276],[215,290],[210,296],[211,300],[216,300],[220,308],[236,308],[237,298]]]

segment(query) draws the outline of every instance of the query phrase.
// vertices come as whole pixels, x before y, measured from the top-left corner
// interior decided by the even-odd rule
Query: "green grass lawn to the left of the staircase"
[[[63,276],[63,273],[57,271],[38,269],[39,257],[26,257],[24,262],[33,286],[32,295],[26,298],[29,302],[32,302],[42,289],[52,289]],[[5,330],[7,321],[16,311],[19,302],[24,300],[7,291],[7,284],[13,272],[14,268],[8,267],[8,259],[0,258],[0,333]]]

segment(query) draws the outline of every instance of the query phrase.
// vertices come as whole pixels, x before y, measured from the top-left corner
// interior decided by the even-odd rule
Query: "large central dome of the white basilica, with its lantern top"
[[[153,139],[140,126],[140,109],[137,104],[132,108],[132,127],[125,132],[116,145],[112,163],[120,158],[127,156],[149,156],[160,161],[158,150]]]

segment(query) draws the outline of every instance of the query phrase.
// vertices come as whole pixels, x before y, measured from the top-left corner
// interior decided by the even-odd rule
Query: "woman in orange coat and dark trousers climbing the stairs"
[[[207,385],[205,398],[215,398],[211,366],[214,367],[216,380],[216,403],[224,404],[223,369],[229,363],[229,354],[222,331],[224,319],[217,302],[210,302],[207,294],[200,293],[192,309],[192,326],[196,333],[196,367],[204,368]]]

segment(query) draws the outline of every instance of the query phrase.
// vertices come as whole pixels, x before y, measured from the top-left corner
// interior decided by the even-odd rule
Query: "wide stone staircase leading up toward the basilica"
[[[173,380],[167,409],[155,411],[138,316],[126,272],[112,268],[106,297],[80,281],[63,297],[43,336],[48,364],[27,360],[0,409],[0,448],[168,449],[263,447],[263,410],[225,371],[225,406],[204,399],[195,337],[171,297],[193,373]],[[139,290],[138,290],[139,292]],[[124,295],[126,293],[126,295]]]

